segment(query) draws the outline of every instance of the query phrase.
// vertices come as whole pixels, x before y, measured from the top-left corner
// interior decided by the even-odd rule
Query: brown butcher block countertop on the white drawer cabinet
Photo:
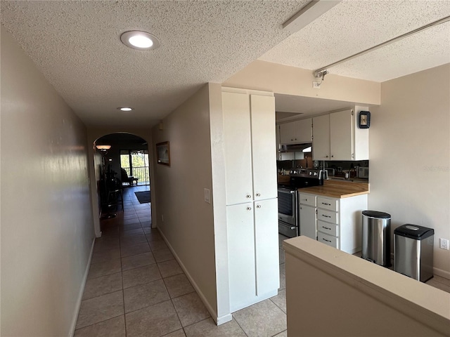
[[[339,180],[324,180],[322,186],[301,188],[302,193],[312,193],[331,198],[348,198],[356,195],[368,194],[368,183],[351,183]]]

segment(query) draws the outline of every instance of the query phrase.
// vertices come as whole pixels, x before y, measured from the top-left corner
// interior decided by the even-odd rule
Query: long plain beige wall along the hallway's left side
[[[69,336],[94,240],[86,127],[1,29],[1,336]]]

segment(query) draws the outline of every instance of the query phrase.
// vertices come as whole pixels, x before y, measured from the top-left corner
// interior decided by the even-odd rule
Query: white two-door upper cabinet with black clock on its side
[[[333,112],[313,118],[314,160],[367,160],[368,129],[357,127],[367,107]]]

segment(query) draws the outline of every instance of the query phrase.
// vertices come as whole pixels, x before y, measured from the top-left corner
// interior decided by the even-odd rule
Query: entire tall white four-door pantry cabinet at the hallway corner
[[[231,312],[278,293],[273,93],[222,89]]]

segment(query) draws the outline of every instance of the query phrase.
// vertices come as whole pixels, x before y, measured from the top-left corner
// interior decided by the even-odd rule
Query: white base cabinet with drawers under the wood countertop
[[[302,200],[313,199],[316,207],[302,204]],[[338,199],[301,192],[300,234],[341,251],[356,253],[361,251],[362,211],[366,209],[367,194]]]

